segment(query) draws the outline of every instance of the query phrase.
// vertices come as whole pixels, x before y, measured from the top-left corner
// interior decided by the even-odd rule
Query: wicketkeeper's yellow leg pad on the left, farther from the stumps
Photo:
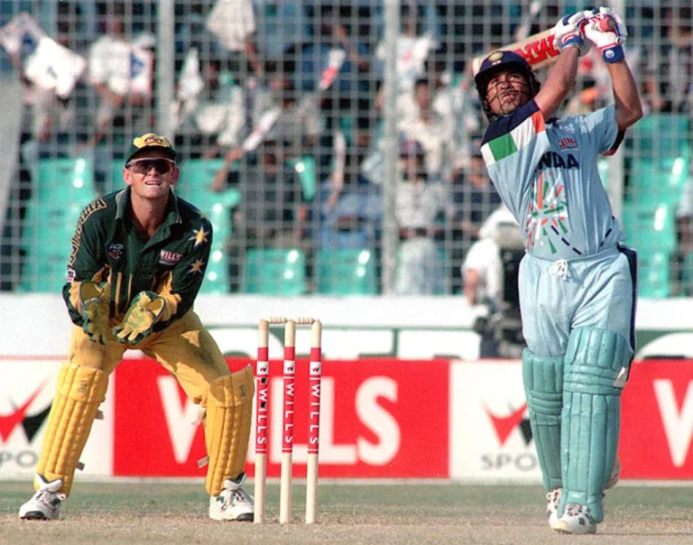
[[[62,479],[60,492],[66,495],[107,389],[103,371],[74,364],[60,367],[36,472],[47,481]]]

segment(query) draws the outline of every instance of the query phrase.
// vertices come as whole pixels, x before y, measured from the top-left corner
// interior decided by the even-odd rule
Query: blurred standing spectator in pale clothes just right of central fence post
[[[397,186],[395,217],[401,242],[395,293],[442,294],[445,274],[436,236],[445,202],[443,187],[426,171],[425,152],[417,141],[402,142],[400,163],[402,180]]]

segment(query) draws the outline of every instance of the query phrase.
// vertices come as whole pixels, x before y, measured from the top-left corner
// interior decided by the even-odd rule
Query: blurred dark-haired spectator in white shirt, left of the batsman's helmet
[[[414,84],[410,115],[398,124],[405,138],[416,140],[426,154],[426,171],[439,180],[449,180],[453,153],[453,124],[433,109],[432,89],[428,79]]]

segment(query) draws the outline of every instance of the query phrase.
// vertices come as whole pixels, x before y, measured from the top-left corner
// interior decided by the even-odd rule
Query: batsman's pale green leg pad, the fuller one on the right
[[[614,468],[621,420],[621,392],[631,361],[628,340],[597,328],[577,328],[565,358],[561,462],[566,503],[586,505],[604,520],[602,493]]]

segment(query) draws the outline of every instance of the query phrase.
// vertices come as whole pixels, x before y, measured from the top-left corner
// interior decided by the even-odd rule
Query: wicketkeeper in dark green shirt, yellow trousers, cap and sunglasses
[[[173,194],[179,176],[171,143],[143,134],[126,153],[125,189],[93,201],[79,217],[62,290],[74,323],[69,356],[58,375],[34,477],[36,494],[20,508],[21,519],[60,518],[60,504],[106,398],[108,377],[125,350],[138,349],[205,409],[209,517],[253,520],[253,499],[241,488],[253,372],[250,366],[229,372],[193,310],[212,226],[199,209]]]

